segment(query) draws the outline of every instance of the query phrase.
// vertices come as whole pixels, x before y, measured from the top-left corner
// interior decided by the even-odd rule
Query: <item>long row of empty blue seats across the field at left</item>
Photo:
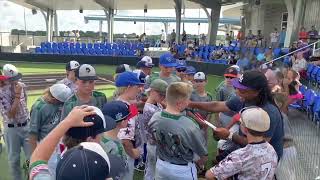
[[[117,55],[134,56],[137,51],[144,52],[141,43],[55,43],[43,42],[35,49],[37,54],[63,54],[63,55]]]

